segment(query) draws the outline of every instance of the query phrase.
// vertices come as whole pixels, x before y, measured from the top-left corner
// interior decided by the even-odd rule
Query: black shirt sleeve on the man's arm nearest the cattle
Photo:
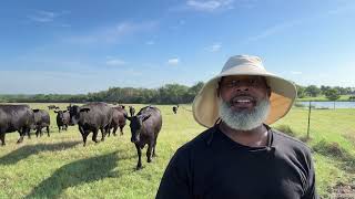
[[[156,199],[193,198],[191,195],[189,154],[180,148],[170,160],[156,192]]]

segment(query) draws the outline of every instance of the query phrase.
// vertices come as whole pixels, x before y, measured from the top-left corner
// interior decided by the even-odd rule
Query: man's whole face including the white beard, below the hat
[[[231,128],[251,130],[266,119],[271,90],[263,77],[227,76],[219,92],[220,117]]]

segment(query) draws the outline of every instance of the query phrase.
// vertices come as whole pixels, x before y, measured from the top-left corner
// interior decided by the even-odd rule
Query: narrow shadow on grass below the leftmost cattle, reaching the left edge
[[[36,155],[41,151],[65,150],[68,148],[74,147],[80,143],[81,142],[64,142],[64,143],[57,143],[57,144],[27,145],[1,157],[0,165],[13,165],[22,159],[26,159],[31,155]]]

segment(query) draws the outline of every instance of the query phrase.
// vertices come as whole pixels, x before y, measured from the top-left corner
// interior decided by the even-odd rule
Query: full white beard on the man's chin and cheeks
[[[231,128],[236,130],[251,130],[266,121],[270,112],[270,101],[262,100],[252,111],[235,112],[231,108],[230,103],[220,98],[220,117]]]

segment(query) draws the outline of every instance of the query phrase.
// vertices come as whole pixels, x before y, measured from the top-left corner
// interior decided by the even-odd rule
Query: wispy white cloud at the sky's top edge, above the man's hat
[[[199,11],[214,11],[223,8],[232,8],[233,0],[187,0],[186,6]]]

